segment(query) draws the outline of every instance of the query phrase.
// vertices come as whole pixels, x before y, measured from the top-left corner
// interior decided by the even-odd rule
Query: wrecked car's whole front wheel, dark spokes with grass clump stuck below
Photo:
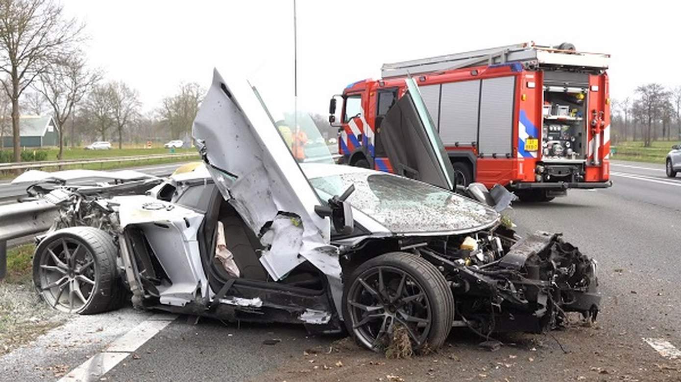
[[[454,296],[445,277],[419,256],[392,252],[360,265],[346,283],[343,317],[359,345],[384,351],[396,325],[412,348],[438,349],[454,320]]]

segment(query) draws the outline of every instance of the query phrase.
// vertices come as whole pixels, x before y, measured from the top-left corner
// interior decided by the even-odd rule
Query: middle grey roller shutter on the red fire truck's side
[[[477,142],[480,80],[442,84],[440,138],[445,145]]]

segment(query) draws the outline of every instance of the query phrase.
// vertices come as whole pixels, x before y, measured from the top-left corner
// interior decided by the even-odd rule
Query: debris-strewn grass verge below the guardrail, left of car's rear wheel
[[[7,276],[0,281],[0,355],[33,341],[67,318],[46,306],[33,288],[34,249],[27,244],[7,251]]]

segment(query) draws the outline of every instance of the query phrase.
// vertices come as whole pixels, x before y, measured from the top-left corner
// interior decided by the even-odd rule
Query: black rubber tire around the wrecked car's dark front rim
[[[413,349],[415,351],[420,351],[422,349],[436,350],[441,347],[445,342],[445,339],[447,339],[449,331],[452,329],[452,322],[454,320],[454,296],[452,290],[449,288],[445,277],[437,268],[435,268],[435,266],[424,258],[405,252],[390,252],[364,262],[364,264],[361,264],[355,269],[349,280],[345,283],[345,288],[343,288],[343,318],[347,331],[358,345],[373,351],[384,350],[379,335],[375,336],[375,338],[370,338],[371,335],[364,330],[364,327],[369,325],[368,323],[364,324],[364,326],[355,328],[357,324],[366,318],[366,315],[361,320],[358,320],[358,317],[356,317],[356,309],[358,309],[358,307],[355,302],[355,293],[358,292],[357,288],[364,288],[362,282],[370,282],[370,275],[377,270],[379,270],[379,273],[404,273],[408,275],[413,281],[411,285],[412,291],[419,290],[421,292],[418,294],[424,294],[425,296],[425,298],[423,298],[425,302],[422,306],[429,309],[430,313],[428,314],[428,317],[430,318],[427,319],[428,324],[426,324],[426,329],[421,334],[422,341],[420,343],[414,341],[414,338],[410,336]],[[364,281],[364,279],[369,281]],[[389,278],[385,285],[390,285],[391,281],[394,281],[394,279],[391,280]],[[394,285],[394,283],[392,283],[392,285]],[[390,296],[390,292],[396,291],[388,291],[389,288],[389,286],[384,288],[384,290],[387,291],[386,294],[389,298],[400,297]],[[407,288],[407,292],[408,290],[409,288]],[[406,297],[409,298],[409,296]],[[401,300],[401,298],[396,299],[394,302],[399,305],[402,304]],[[379,304],[377,301],[376,303]],[[421,303],[419,302],[419,304]],[[383,313],[393,315],[390,330],[392,330],[392,323],[394,322],[405,324],[405,322],[410,321],[409,319],[405,319],[405,316],[400,317],[400,315],[398,315],[398,313],[400,313],[399,308],[395,309],[395,311],[392,311],[392,307],[381,309],[383,309]],[[378,320],[380,321],[381,319],[379,318]],[[383,325],[385,325],[385,318],[383,318]],[[416,329],[418,330],[418,328]]]

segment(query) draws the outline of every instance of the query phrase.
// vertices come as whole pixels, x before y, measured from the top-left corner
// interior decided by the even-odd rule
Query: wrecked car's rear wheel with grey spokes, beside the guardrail
[[[93,314],[117,309],[127,297],[116,271],[117,256],[118,249],[106,232],[92,227],[63,228],[50,233],[35,249],[33,283],[48,305],[59,311]],[[67,296],[63,296],[65,291]]]

